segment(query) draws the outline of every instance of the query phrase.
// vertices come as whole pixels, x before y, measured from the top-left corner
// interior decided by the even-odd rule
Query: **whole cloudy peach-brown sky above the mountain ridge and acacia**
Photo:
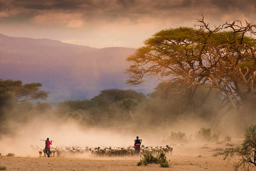
[[[0,0],[0,33],[96,48],[142,46],[161,29],[256,22],[254,0]]]

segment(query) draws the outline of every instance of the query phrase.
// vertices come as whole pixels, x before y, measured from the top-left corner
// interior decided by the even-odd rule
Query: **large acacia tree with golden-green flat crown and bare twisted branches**
[[[129,84],[143,83],[147,75],[161,81],[179,82],[176,91],[185,91],[195,109],[193,97],[198,85],[222,95],[218,109],[228,103],[239,107],[248,99],[254,99],[256,76],[256,25],[239,20],[224,23],[211,29],[202,19],[193,28],[179,27],[161,30],[144,41],[144,46],[126,58],[131,62],[126,70]],[[249,69],[246,65],[252,62]],[[244,86],[245,85],[245,86]],[[184,88],[180,88],[184,87]],[[252,98],[251,98],[252,97]]]

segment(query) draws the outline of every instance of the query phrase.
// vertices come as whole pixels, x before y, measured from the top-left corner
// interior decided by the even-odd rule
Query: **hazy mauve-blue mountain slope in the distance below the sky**
[[[40,82],[50,102],[90,99],[102,89],[150,93],[156,81],[130,87],[125,58],[134,48],[92,48],[58,40],[16,38],[0,34],[0,78]]]

